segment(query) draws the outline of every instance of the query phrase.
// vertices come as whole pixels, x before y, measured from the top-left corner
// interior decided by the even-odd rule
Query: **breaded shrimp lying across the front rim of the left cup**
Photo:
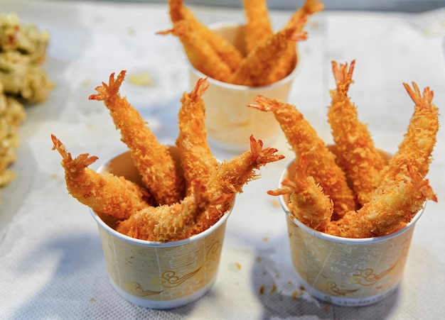
[[[176,204],[141,209],[129,219],[119,222],[117,231],[132,238],[166,242],[196,224],[209,206],[226,202],[233,197],[233,194],[210,197],[205,186],[196,180],[193,195]]]

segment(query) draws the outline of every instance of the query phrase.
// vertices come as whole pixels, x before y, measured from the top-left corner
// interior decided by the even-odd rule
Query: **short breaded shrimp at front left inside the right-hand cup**
[[[267,194],[278,196],[289,194],[287,207],[291,215],[307,226],[324,231],[331,221],[333,202],[323,193],[320,185],[307,175],[305,156],[296,159],[296,172],[293,177],[282,181],[283,187],[269,190]]]

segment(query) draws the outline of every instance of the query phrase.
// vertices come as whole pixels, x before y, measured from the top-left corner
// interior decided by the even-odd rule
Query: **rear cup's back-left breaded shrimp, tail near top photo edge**
[[[193,16],[193,13],[183,5],[183,0],[168,0],[168,5],[173,24],[181,20],[187,21],[188,25],[191,26],[191,31],[199,34],[198,38],[194,38],[194,40],[197,41],[195,45],[200,47],[206,46],[204,43],[207,43],[220,59],[227,63],[231,71],[240,65],[242,53],[240,53],[232,43],[225,40],[225,38],[215,33],[215,31],[210,30],[207,26],[203,25],[203,23],[200,23],[200,21]],[[208,76],[210,77],[210,75]]]

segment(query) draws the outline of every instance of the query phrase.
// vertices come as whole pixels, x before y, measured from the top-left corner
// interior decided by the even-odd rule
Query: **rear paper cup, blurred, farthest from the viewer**
[[[210,26],[214,31],[233,43],[241,52],[244,49],[244,27],[236,23],[218,23]],[[297,62],[296,66],[299,64]],[[242,151],[250,148],[249,138],[272,143],[277,138],[280,127],[271,112],[248,108],[258,94],[270,99],[287,101],[297,67],[284,79],[264,87],[247,87],[228,84],[208,78],[205,101],[205,124],[210,145],[230,151]],[[190,67],[191,87],[200,78],[207,77],[192,66]]]

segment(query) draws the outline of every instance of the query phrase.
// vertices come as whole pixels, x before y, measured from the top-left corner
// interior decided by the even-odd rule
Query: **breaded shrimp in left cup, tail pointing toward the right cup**
[[[259,175],[257,169],[269,162],[284,159],[284,155],[276,155],[275,148],[262,148],[262,140],[250,137],[250,150],[238,155],[231,160],[223,161],[218,169],[209,178],[207,184],[210,194],[237,194],[242,192],[242,187]],[[218,206],[210,206],[207,214],[203,216],[195,228],[189,230],[190,234],[199,233],[213,226],[223,214],[232,206],[232,202],[225,202]]]

